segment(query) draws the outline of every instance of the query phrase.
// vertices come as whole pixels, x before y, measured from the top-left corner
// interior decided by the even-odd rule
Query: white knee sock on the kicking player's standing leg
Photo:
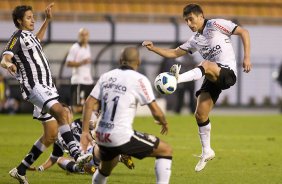
[[[211,149],[211,123],[208,119],[206,122],[202,124],[198,124],[199,126],[199,136],[202,144],[202,152],[205,153]]]

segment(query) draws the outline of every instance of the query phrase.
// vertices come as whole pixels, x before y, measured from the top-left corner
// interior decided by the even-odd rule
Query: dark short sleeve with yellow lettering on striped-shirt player
[[[3,55],[5,54],[9,54],[14,56],[15,54],[18,53],[18,51],[20,50],[21,44],[20,44],[20,32],[16,32],[14,33],[13,36],[11,36],[9,42],[7,43]]]

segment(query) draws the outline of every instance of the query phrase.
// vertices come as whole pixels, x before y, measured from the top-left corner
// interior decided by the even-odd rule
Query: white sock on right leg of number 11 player
[[[159,157],[155,161],[157,184],[168,184],[171,174],[172,157]]]

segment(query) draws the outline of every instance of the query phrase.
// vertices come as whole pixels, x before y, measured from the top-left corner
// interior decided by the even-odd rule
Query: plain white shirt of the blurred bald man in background
[[[79,43],[75,43],[70,48],[66,62],[81,62],[85,59],[90,58],[90,46],[87,44],[86,47],[81,47]],[[71,84],[93,84],[93,78],[91,75],[91,63],[79,67],[73,67]]]

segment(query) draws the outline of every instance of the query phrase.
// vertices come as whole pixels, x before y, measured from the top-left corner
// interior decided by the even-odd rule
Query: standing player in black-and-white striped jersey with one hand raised
[[[36,35],[32,33],[35,24],[32,7],[15,7],[12,16],[18,30],[8,42],[1,60],[1,66],[19,81],[23,98],[34,105],[33,117],[43,122],[42,137],[34,143],[19,166],[9,172],[10,176],[24,184],[28,184],[26,169],[55,141],[58,130],[75,160],[82,164],[92,158],[91,154],[81,156],[74,141],[67,111],[58,102],[59,95],[52,80],[48,59],[40,45],[52,19],[53,6],[54,3],[47,6],[46,18]]]

